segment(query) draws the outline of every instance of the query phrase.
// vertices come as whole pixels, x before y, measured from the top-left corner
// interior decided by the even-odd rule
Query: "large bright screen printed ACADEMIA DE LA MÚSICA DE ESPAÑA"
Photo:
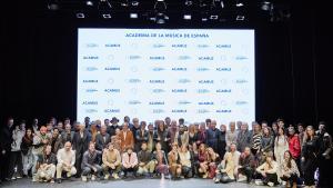
[[[255,119],[254,30],[78,31],[77,118]]]

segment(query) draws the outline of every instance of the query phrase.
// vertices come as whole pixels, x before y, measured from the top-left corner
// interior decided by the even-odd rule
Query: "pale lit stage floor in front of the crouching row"
[[[230,182],[230,184],[214,184],[212,179],[181,179],[181,180],[169,180],[169,179],[127,179],[127,180],[102,180],[102,181],[90,181],[82,182],[77,179],[73,181],[62,181],[62,184],[42,184],[42,182],[31,182],[31,179],[19,179],[10,182],[2,182],[0,187],[2,188],[39,188],[49,187],[52,188],[259,188],[262,186],[248,185],[244,182]]]

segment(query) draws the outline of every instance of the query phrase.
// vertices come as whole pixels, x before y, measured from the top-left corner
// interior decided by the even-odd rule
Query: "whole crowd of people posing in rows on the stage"
[[[228,127],[228,128],[226,128]],[[230,122],[216,127],[206,119],[153,123],[124,117],[71,125],[56,118],[31,126],[9,118],[0,132],[1,180],[31,177],[32,181],[62,182],[132,177],[210,178],[214,182],[244,181],[295,188],[329,187],[332,138],[325,122],[314,127],[285,126],[278,119]],[[315,175],[319,175],[315,180]],[[317,181],[317,182],[316,182]]]

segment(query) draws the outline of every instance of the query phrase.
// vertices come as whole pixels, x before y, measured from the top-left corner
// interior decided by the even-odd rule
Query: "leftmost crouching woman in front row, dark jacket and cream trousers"
[[[51,181],[54,182],[54,174],[56,174],[56,162],[57,157],[53,152],[51,152],[51,145],[47,145],[44,147],[43,154],[39,155],[37,160],[37,174],[33,177],[32,181]]]

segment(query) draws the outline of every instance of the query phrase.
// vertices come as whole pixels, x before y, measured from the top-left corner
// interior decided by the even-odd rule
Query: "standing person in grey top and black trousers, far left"
[[[20,179],[23,176],[23,165],[21,156],[21,142],[24,132],[21,130],[21,125],[17,125],[12,130],[12,142],[10,151],[10,165],[8,177],[12,180]],[[17,171],[14,169],[17,168]]]

